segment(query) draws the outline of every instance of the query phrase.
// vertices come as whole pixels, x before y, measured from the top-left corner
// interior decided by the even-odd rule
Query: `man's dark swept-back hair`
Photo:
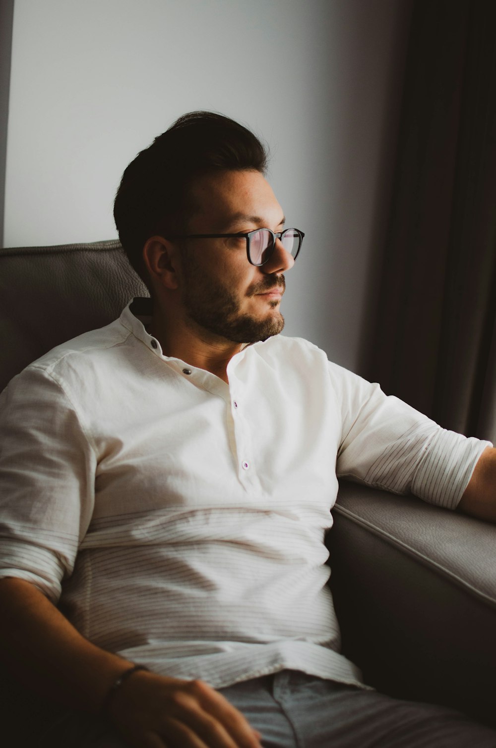
[[[114,218],[121,245],[148,284],[142,250],[150,236],[184,232],[194,210],[190,187],[216,171],[260,171],[267,150],[246,127],[211,111],[179,117],[122,176]]]

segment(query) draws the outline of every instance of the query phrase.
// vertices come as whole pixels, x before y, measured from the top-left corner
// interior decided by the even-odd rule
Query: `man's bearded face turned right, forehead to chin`
[[[258,171],[228,171],[199,179],[192,190],[198,211],[187,233],[238,233],[256,228],[282,230],[284,215],[270,185]],[[247,258],[244,237],[190,239],[182,261],[182,303],[187,321],[209,337],[255,343],[284,326],[279,304],[282,272],[294,260],[276,242],[261,268]]]

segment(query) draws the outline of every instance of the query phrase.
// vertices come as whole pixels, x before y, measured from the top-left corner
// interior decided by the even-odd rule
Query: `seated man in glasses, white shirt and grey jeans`
[[[67,705],[53,746],[494,746],[339,654],[336,470],[495,519],[495,450],[279,336],[303,232],[265,167],[217,114],[160,135],[115,200],[153,304],[4,391],[4,657]]]

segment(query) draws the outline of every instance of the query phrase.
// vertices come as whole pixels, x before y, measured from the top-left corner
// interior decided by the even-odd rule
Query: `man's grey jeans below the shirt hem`
[[[282,670],[220,689],[264,748],[496,748],[496,732],[444,707]],[[57,738],[55,740],[55,735]],[[124,748],[107,723],[70,717],[50,748]]]

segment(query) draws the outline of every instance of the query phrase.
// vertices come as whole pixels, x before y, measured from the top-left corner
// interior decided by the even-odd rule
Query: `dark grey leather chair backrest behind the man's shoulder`
[[[0,391],[58,343],[148,296],[118,241],[0,250]]]

